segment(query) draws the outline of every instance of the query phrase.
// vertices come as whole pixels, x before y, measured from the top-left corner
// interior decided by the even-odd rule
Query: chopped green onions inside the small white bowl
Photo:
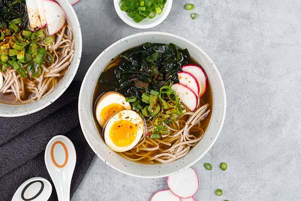
[[[167,0],[121,0],[120,9],[135,22],[161,14]]]

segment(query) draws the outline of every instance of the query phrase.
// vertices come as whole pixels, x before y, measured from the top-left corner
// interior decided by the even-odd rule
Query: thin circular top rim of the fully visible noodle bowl
[[[96,67],[96,64],[98,62],[98,60],[101,58],[101,56],[110,48],[112,48],[113,46],[117,45],[119,42],[123,41],[123,40],[128,40],[129,38],[134,38],[135,36],[139,36],[139,35],[166,35],[166,36],[172,36],[172,37],[176,37],[180,40],[184,40],[185,42],[189,43],[190,45],[194,46],[195,48],[197,48],[200,52],[202,52],[202,54],[204,54],[204,56],[206,56],[206,58],[208,58],[208,60],[211,62],[211,65],[213,66],[213,68],[215,69],[215,72],[217,74],[217,77],[221,83],[221,86],[222,86],[222,94],[223,94],[223,114],[222,114],[222,120],[221,120],[221,123],[220,123],[220,126],[219,126],[219,129],[217,131],[217,134],[216,136],[214,137],[214,139],[212,140],[212,142],[210,143],[210,145],[208,146],[208,148],[202,153],[200,154],[198,157],[196,157],[191,163],[187,163],[185,165],[184,168],[181,168],[181,169],[175,169],[174,171],[172,172],[169,172],[169,173],[166,173],[166,174],[162,174],[162,175],[156,175],[156,176],[145,176],[145,175],[138,175],[138,174],[134,174],[134,173],[129,173],[129,172],[126,172],[126,171],[123,171],[121,169],[119,169],[118,167],[112,165],[111,163],[109,163],[108,161],[106,161],[100,154],[98,154],[98,152],[96,151],[95,148],[93,148],[92,146],[92,143],[89,141],[88,137],[87,137],[87,134],[85,131],[85,129],[83,129],[83,116],[82,116],[82,109],[81,109],[81,104],[82,104],[82,93],[83,93],[83,86],[84,86],[84,83],[86,82],[86,79],[88,77],[88,74],[90,73],[90,71],[92,70],[92,68]],[[92,67],[94,66],[94,67]],[[94,86],[93,86],[94,87]],[[92,99],[92,97],[91,97]],[[140,33],[135,33],[135,34],[131,34],[129,36],[126,36],[126,37],[123,37],[119,40],[117,40],[116,42],[112,43],[110,46],[108,46],[106,49],[104,49],[96,58],[95,60],[92,62],[92,64],[90,65],[89,69],[87,70],[85,76],[84,76],[84,79],[82,81],[82,84],[81,84],[81,88],[80,88],[80,92],[79,92],[79,98],[78,98],[78,115],[79,115],[79,122],[80,122],[80,125],[81,125],[81,128],[82,128],[82,131],[83,131],[83,134],[85,136],[85,139],[86,141],[88,142],[90,148],[95,152],[95,154],[103,161],[105,162],[107,165],[109,165],[110,167],[114,168],[115,170],[121,172],[121,173],[124,173],[126,175],[130,175],[130,176],[134,176],[134,177],[139,177],[139,178],[161,178],[161,177],[166,177],[166,176],[169,176],[169,175],[172,175],[176,172],[179,172],[179,171],[182,171],[188,167],[191,167],[192,165],[194,165],[196,162],[198,162],[210,149],[211,147],[213,146],[213,144],[215,143],[215,141],[217,140],[222,128],[223,128],[223,124],[225,122],[225,117],[226,117],[226,108],[227,108],[227,99],[226,99],[226,91],[225,91],[225,86],[224,86],[224,82],[223,82],[223,79],[215,65],[215,63],[212,61],[212,59],[208,56],[208,54],[201,48],[199,47],[197,44],[193,43],[192,41],[182,37],[182,36],[179,36],[179,35],[176,35],[176,34],[172,34],[172,33],[168,33],[168,32],[160,32],[160,31],[146,31],[146,32],[140,32]],[[92,115],[93,115],[93,112],[92,112]],[[93,124],[93,126],[95,126]]]

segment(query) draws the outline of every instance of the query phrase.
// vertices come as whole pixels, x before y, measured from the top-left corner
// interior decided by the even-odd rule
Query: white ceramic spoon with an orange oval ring
[[[53,137],[45,150],[45,163],[59,201],[70,201],[70,185],[76,163],[72,141],[63,135]]]

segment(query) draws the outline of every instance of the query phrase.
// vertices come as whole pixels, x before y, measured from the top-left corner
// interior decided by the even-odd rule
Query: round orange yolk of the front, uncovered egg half
[[[137,126],[128,120],[118,120],[110,129],[110,138],[116,146],[128,146],[136,138]]]

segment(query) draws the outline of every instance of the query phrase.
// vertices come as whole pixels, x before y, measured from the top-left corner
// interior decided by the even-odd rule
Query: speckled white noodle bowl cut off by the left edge
[[[62,79],[59,81],[58,85],[50,94],[48,94],[44,98],[41,98],[40,100],[33,101],[28,104],[4,104],[0,102],[0,116],[23,116],[47,107],[62,95],[62,93],[68,88],[76,74],[82,53],[82,34],[79,21],[72,5],[68,0],[56,1],[65,10],[67,21],[72,26],[75,42],[75,52],[72,63]]]

